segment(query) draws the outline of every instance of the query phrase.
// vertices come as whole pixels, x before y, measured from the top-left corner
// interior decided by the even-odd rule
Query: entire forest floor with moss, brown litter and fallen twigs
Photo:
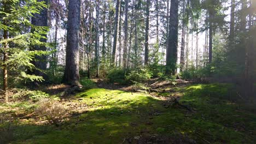
[[[256,141],[255,102],[242,101],[229,84],[177,80],[173,85],[153,79],[138,88],[102,80],[82,83],[85,88],[75,94],[66,85],[40,88],[65,110],[57,122],[37,115],[39,102],[0,104],[0,143]],[[11,121],[6,124],[6,119]]]

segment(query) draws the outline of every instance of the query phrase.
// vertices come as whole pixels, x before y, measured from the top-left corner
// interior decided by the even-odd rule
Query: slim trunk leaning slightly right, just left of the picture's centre
[[[112,51],[112,67],[114,67],[115,65],[115,58],[117,56],[119,13],[120,13],[120,0],[117,0],[117,5],[115,6],[115,27],[114,27],[114,41],[113,41],[113,51]]]

